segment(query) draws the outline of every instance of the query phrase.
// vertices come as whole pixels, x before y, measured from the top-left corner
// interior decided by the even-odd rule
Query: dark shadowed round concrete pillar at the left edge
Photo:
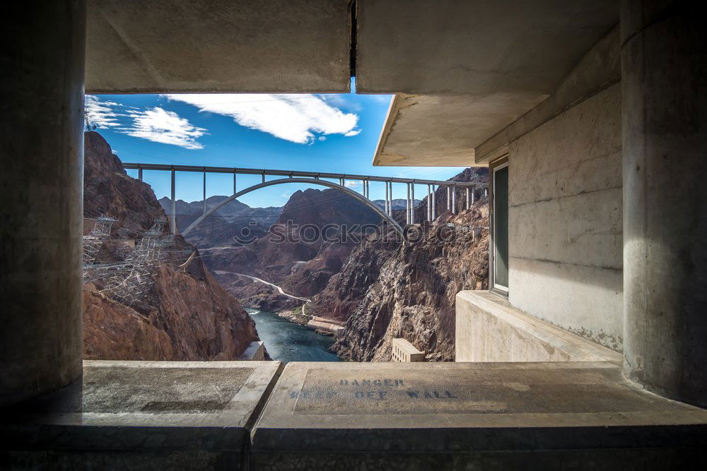
[[[86,4],[0,20],[0,405],[81,378]]]

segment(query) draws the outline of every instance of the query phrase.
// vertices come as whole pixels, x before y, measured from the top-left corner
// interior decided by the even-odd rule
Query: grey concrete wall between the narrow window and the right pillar
[[[621,85],[508,145],[509,299],[621,351]]]

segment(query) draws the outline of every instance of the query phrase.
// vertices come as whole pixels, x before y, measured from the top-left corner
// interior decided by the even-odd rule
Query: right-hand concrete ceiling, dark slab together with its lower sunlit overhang
[[[375,165],[473,165],[619,18],[617,0],[358,0],[357,12],[356,90],[416,95],[396,100]]]

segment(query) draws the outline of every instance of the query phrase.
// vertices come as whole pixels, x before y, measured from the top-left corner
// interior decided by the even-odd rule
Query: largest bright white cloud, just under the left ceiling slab
[[[358,116],[344,113],[315,95],[187,94],[165,95],[202,112],[232,117],[241,126],[294,143],[312,143],[320,135],[351,133]],[[357,132],[358,133],[358,132]]]

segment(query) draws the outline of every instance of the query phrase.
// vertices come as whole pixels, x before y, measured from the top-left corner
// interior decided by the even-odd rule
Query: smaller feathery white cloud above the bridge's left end
[[[144,111],[129,111],[128,114],[132,117],[132,126],[119,129],[128,136],[187,149],[204,148],[197,139],[206,133],[206,129],[197,128],[175,112],[154,107]]]

